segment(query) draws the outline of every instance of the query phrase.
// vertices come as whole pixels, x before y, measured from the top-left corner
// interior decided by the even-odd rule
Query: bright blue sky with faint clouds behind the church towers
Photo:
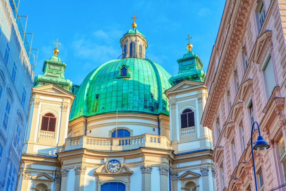
[[[84,2],[84,3],[83,3]],[[119,40],[137,28],[148,41],[146,55],[171,75],[178,73],[177,59],[186,49],[188,33],[195,54],[206,71],[215,43],[225,0],[177,1],[20,1],[19,14],[28,15],[26,32],[34,33],[38,48],[35,75],[53,55],[59,38],[59,57],[67,64],[65,77],[80,85],[85,76],[121,54]]]

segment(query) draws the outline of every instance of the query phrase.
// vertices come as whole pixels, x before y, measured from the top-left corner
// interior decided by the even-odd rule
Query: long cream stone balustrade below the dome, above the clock
[[[81,148],[97,151],[122,151],[139,147],[172,150],[171,142],[166,136],[151,134],[120,138],[97,138],[81,135],[67,138],[64,146],[65,151]]]

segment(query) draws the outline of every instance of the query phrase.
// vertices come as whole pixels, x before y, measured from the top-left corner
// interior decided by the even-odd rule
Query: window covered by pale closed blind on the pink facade
[[[266,82],[266,92],[267,92],[267,97],[269,99],[276,85],[270,53],[268,54],[268,57],[266,58],[264,64],[262,64],[261,69],[264,73],[264,78]]]

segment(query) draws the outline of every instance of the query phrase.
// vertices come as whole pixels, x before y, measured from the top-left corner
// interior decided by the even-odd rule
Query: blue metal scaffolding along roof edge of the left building
[[[19,15],[19,13],[18,13],[19,1],[20,0],[9,0],[9,3],[10,3],[10,7],[12,9],[13,16],[15,18],[20,36],[21,36],[21,40],[24,44],[24,48],[25,48],[26,53],[28,55],[29,62],[30,62],[31,67],[32,67],[32,71],[35,73],[37,58],[38,58],[38,49],[31,48],[32,41],[33,41],[33,33],[26,33],[28,16]],[[21,18],[25,18],[25,27],[22,23]],[[30,41],[29,41],[27,35],[31,36]],[[33,53],[31,53],[31,51],[33,51]]]

